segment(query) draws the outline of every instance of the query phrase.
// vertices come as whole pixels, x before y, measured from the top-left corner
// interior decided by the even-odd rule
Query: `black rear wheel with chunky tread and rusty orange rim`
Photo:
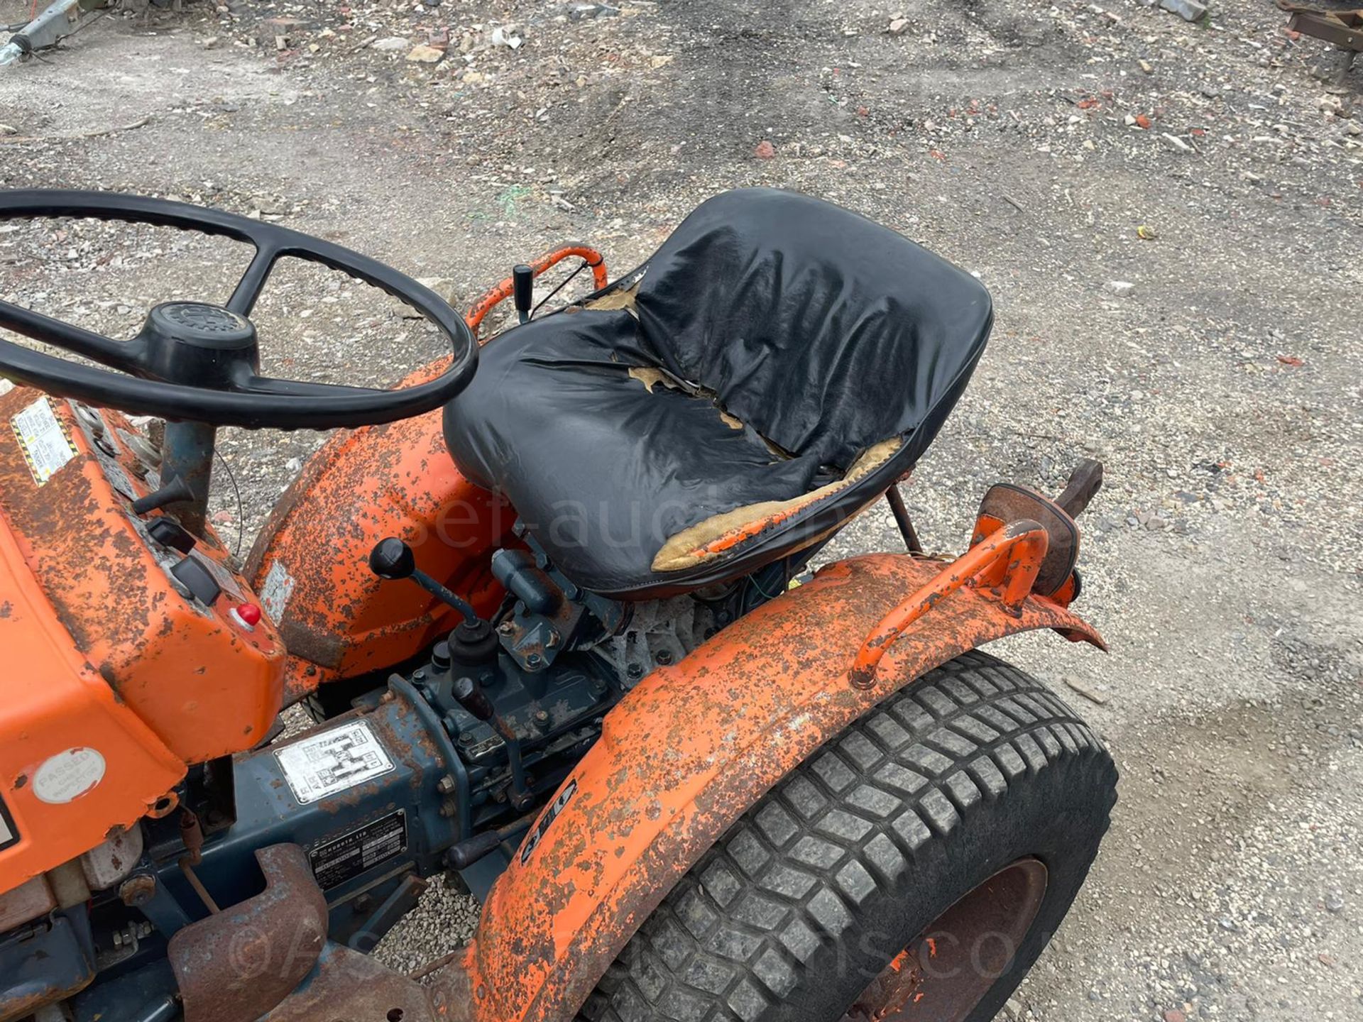
[[[985,1022],[1069,910],[1115,801],[1088,725],[966,653],[744,814],[579,1022]]]

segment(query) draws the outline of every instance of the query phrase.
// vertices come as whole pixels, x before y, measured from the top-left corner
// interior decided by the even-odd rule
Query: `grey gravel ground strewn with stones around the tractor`
[[[0,22],[26,5],[0,0]],[[960,549],[990,482],[1107,463],[1082,606],[1112,654],[995,651],[1078,703],[1123,771],[1093,878],[1009,1012],[1358,1019],[1363,71],[1322,83],[1323,53],[1266,0],[1195,25],[1126,0],[120,14],[0,72],[0,184],[279,219],[457,301],[567,236],[624,270],[755,183],[977,273],[994,341],[909,506]],[[226,264],[153,229],[0,234],[0,294],[127,332],[150,301],[225,293]],[[303,270],[260,327],[267,368],[319,379],[386,382],[435,350]],[[320,439],[228,431],[229,538],[249,544]],[[878,510],[829,556],[895,542]],[[474,920],[436,884],[380,954],[423,962]]]

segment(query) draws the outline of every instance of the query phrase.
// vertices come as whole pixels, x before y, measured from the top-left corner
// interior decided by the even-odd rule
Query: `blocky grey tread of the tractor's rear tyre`
[[[744,814],[645,920],[579,1019],[754,1022],[925,845],[1084,756],[1107,751],[1041,683],[980,651],[942,665]]]

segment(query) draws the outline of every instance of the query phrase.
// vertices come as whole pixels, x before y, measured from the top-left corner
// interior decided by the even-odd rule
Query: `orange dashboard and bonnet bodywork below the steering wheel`
[[[211,534],[165,548],[132,512],[157,484],[134,433],[113,412],[0,394],[0,796],[20,837],[0,891],[169,796],[166,811],[188,764],[251,748],[279,713],[284,647],[232,617],[255,597],[226,551]],[[172,579],[185,556],[219,583],[213,606]]]

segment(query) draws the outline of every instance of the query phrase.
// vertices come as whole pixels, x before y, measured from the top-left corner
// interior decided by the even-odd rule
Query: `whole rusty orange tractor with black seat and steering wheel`
[[[225,304],[129,339],[0,303],[41,342],[0,339],[0,1019],[995,1015],[1116,773],[977,651],[1103,646],[1070,610],[1100,467],[1054,500],[994,486],[955,560],[897,491],[984,350],[975,278],[735,191],[613,282],[568,245],[466,322],[277,225],[0,193],[0,219],[63,217],[255,256]],[[249,316],[282,258],[395,296],[451,354],[388,391],[263,376]],[[570,258],[596,290],[533,318]],[[507,297],[521,323],[480,347]],[[226,425],[345,428],[244,564],[206,521]],[[908,551],[808,578],[882,499]],[[278,740],[294,703],[316,726]],[[481,901],[473,942],[383,967],[439,875]]]

